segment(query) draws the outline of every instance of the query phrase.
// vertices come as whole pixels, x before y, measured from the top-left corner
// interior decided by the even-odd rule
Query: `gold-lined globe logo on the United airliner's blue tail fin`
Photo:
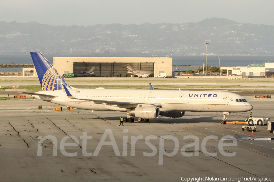
[[[54,67],[51,67],[45,72],[42,79],[43,91],[64,89],[63,85],[66,85],[68,89],[71,88]]]

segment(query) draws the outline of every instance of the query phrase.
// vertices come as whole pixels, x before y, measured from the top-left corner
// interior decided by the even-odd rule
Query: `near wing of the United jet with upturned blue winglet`
[[[68,91],[68,89],[64,86],[64,89],[66,91],[66,94],[68,98],[71,99],[78,99],[72,96],[72,94]],[[129,102],[119,102],[119,101],[109,101],[109,100],[95,100],[95,99],[78,99],[78,100],[87,100],[87,101],[93,101],[95,104],[103,104],[105,103],[106,105],[117,105],[118,107],[123,107],[123,108],[132,108],[132,107],[137,107],[137,105],[142,104],[142,105],[153,105],[156,107],[162,108],[162,105],[159,104],[151,104],[151,103],[129,103]]]

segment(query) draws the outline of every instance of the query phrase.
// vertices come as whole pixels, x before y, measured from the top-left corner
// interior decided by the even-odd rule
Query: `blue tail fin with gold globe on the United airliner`
[[[43,91],[53,89],[61,90],[64,89],[64,85],[66,85],[68,89],[72,88],[56,69],[51,66],[41,52],[30,52],[30,55]]]

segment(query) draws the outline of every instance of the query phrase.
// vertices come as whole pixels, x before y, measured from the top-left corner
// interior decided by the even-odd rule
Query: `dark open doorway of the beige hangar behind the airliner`
[[[75,77],[137,76],[132,73],[127,73],[126,64],[129,64],[133,70],[139,71],[139,74],[147,74],[149,72],[149,77],[154,77],[154,63],[152,62],[74,62],[73,73]],[[93,71],[91,72],[90,70]]]

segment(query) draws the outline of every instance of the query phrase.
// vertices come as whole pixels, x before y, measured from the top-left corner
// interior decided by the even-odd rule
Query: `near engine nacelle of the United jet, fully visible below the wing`
[[[139,117],[142,119],[158,118],[159,114],[160,109],[155,106],[135,107],[129,111],[130,116]]]

